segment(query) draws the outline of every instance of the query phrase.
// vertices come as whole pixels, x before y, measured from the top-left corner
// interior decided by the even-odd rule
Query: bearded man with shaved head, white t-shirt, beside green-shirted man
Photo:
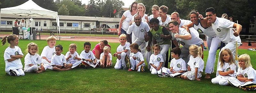
[[[133,43],[137,43],[140,46],[140,50],[141,53],[143,54],[143,57],[145,57],[145,49],[146,49],[146,45],[148,45],[145,42],[145,38],[144,38],[144,34],[147,33],[150,30],[150,27],[148,25],[147,22],[143,22],[141,21],[141,17],[140,15],[136,15],[134,17],[134,23],[132,23],[131,26],[129,26],[128,30],[127,30],[127,41],[129,43],[132,43],[131,40],[131,33],[134,33],[134,35],[136,36],[136,39]]]

